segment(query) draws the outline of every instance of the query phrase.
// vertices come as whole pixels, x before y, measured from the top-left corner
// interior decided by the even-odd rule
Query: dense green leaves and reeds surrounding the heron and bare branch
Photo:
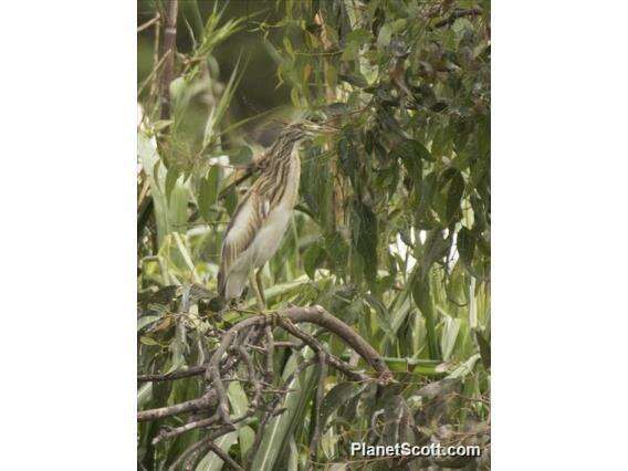
[[[206,397],[223,336],[259,316],[251,290],[222,317],[207,307],[222,236],[263,154],[252,136],[304,115],[338,133],[302,147],[300,201],[263,272],[268,311],[323,306],[393,380],[333,328],[300,324],[318,346],[296,347],[274,318],[264,332],[284,348],[243,341],[248,354],[227,352],[234,364],[220,371],[229,412],[252,410],[247,420],[168,436],[220,402],[142,419],[138,468],[213,470],[224,453],[263,470],[488,468],[490,2],[238,3],[138,3],[138,56],[151,63],[138,77],[138,410]],[[236,48],[244,33],[260,45],[249,55]],[[230,74],[217,59],[226,48]],[[254,93],[275,102],[242,116],[234,103],[255,54],[275,74]],[[374,380],[329,367],[332,356]],[[242,379],[255,368],[260,397]],[[369,460],[350,457],[350,441],[480,444],[482,458]]]

